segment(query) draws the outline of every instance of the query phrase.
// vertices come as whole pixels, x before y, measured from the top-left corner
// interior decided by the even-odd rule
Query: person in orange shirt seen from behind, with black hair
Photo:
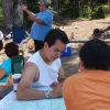
[[[110,110],[110,47],[88,41],[79,52],[80,72],[63,86],[67,110]]]

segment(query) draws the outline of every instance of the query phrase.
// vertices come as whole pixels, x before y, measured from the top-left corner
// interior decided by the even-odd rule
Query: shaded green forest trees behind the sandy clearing
[[[38,0],[0,0],[0,30],[10,31],[14,25],[13,10],[15,3],[24,3],[34,12],[38,12]],[[54,21],[64,19],[103,19],[110,13],[110,0],[52,0],[51,10],[54,13]],[[30,29],[32,22],[28,14],[23,15],[23,25]]]

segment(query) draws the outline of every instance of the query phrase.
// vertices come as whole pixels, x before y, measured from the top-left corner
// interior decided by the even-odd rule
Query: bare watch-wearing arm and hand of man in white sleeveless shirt
[[[31,88],[31,84],[38,79],[38,69],[35,64],[28,63],[25,65],[23,76],[20,80],[16,98],[20,100],[32,100],[32,99],[43,99],[45,98],[45,94],[43,90],[33,90]],[[63,90],[61,86],[55,87],[48,96],[51,98],[59,97],[63,95]]]

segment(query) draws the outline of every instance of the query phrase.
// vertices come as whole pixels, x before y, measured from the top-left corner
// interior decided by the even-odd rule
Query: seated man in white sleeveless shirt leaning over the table
[[[26,62],[20,80],[16,98],[32,100],[56,98],[63,94],[65,74],[59,56],[68,43],[66,33],[62,30],[51,30],[44,40],[44,47],[33,54]],[[31,86],[53,87],[48,90],[34,90]]]

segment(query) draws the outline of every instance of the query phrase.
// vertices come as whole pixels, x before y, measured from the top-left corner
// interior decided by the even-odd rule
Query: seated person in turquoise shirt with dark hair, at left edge
[[[14,55],[19,55],[19,46],[14,42],[6,44],[4,53],[9,57],[4,59],[3,63],[0,65],[0,82],[6,82],[8,76],[12,74],[11,70],[11,57]]]

